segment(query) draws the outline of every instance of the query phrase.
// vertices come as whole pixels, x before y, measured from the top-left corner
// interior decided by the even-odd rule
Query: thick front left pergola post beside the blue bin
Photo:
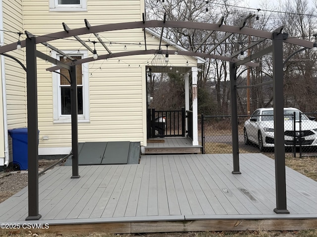
[[[38,132],[38,90],[36,65],[36,40],[30,37],[26,43],[26,85],[28,113],[28,207],[25,220],[39,220],[39,132]]]

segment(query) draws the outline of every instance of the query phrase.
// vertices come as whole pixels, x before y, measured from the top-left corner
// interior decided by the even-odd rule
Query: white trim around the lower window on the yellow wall
[[[80,54],[74,50],[63,50],[64,53],[69,56],[82,56],[82,58],[88,57],[88,50],[80,50]],[[55,51],[52,51],[52,57],[59,59],[61,55]],[[86,70],[85,70],[86,69]],[[59,72],[59,70],[58,70]],[[82,64],[82,83],[83,83],[83,114],[78,115],[78,122],[90,122],[90,108],[89,108],[89,73],[88,63]],[[70,115],[61,115],[61,102],[60,102],[60,75],[52,73],[53,77],[53,122],[54,123],[66,123],[71,122]]]

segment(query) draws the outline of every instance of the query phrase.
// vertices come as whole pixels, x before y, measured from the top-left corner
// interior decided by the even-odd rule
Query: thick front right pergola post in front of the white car
[[[283,39],[281,33],[272,34],[273,45],[273,108],[274,108],[274,156],[275,156],[275,213],[289,214],[286,206],[286,176],[284,147],[284,83]]]

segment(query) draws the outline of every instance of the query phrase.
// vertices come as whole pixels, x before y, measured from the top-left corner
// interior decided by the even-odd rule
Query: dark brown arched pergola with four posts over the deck
[[[26,32],[27,39],[19,41],[21,47],[26,47],[26,72],[27,72],[27,112],[28,112],[28,208],[29,216],[26,220],[38,220],[41,218],[39,214],[39,175],[38,175],[38,106],[37,106],[37,63],[36,58],[39,57],[43,60],[48,60],[50,63],[56,66],[48,68],[47,71],[54,72],[61,68],[67,69],[70,75],[71,84],[71,126],[72,126],[72,176],[71,178],[79,178],[78,169],[78,128],[77,128],[77,85],[76,85],[76,71],[75,66],[82,63],[91,62],[94,60],[101,60],[113,57],[123,57],[141,54],[157,54],[158,50],[147,49],[146,37],[145,50],[136,51],[123,51],[118,53],[111,53],[106,45],[101,41],[102,45],[106,49],[106,54],[99,55],[98,59],[93,57],[84,58],[80,60],[73,60],[71,57],[65,55],[63,52],[54,48],[48,42],[54,39],[64,39],[68,37],[75,37],[76,40],[81,42],[92,53],[94,50],[86,45],[79,36],[85,34],[97,34],[100,32],[109,32],[115,30],[137,29],[137,28],[191,28],[198,30],[207,30],[210,33],[202,40],[200,45],[206,42],[213,32],[221,31],[226,35],[218,41],[218,43],[208,53],[197,52],[199,46],[194,51],[178,51],[179,55],[199,56],[203,58],[211,58],[217,60],[224,60],[230,62],[230,84],[231,84],[231,117],[232,117],[232,150],[233,150],[233,174],[241,174],[239,168],[239,147],[238,147],[238,116],[237,116],[237,99],[236,90],[239,88],[236,85],[236,72],[237,67],[240,65],[246,65],[250,67],[256,67],[258,64],[251,62],[252,60],[261,57],[267,53],[272,52],[273,57],[273,107],[274,107],[274,155],[275,155],[275,186],[276,186],[276,208],[275,213],[289,213],[286,205],[286,181],[285,181],[285,151],[284,151],[284,129],[283,126],[277,126],[283,124],[283,43],[291,43],[302,46],[304,48],[312,48],[313,42],[300,40],[296,38],[288,38],[287,34],[282,33],[283,27],[278,28],[273,32],[266,32],[261,30],[255,30],[245,28],[247,19],[246,17],[241,21],[240,26],[228,26],[223,25],[223,18],[216,24],[200,23],[200,22],[181,22],[181,21],[166,21],[165,17],[163,21],[153,20],[145,21],[143,15],[143,21],[139,22],[126,22],[116,24],[105,24],[98,26],[91,26],[87,20],[85,20],[85,27],[78,29],[69,29],[66,24],[63,23],[64,31],[48,34],[44,36],[35,37],[31,33]],[[217,47],[221,42],[225,41],[232,34],[243,34],[248,36],[259,37],[260,40],[249,44],[242,50],[246,50],[255,46],[263,40],[271,40],[271,46],[268,46],[261,51],[258,51],[243,60],[236,58],[240,54],[240,51],[233,53],[230,57],[211,54],[211,51]],[[162,37],[162,34],[161,34]],[[71,59],[69,63],[63,63],[57,59],[54,59],[36,49],[36,45],[42,43],[56,52]],[[161,41],[160,41],[161,43]],[[17,42],[1,46],[0,54],[5,56],[12,56],[6,54],[16,49]],[[168,53],[174,53],[175,50],[168,50]],[[167,53],[166,50],[160,50],[160,53]],[[14,59],[14,58],[13,58]],[[14,59],[16,60],[16,59]],[[16,60],[18,61],[18,60]],[[20,63],[20,62],[19,62]],[[20,63],[23,66],[23,64]],[[259,84],[262,85],[262,84]],[[193,87],[197,87],[197,84],[193,84]]]

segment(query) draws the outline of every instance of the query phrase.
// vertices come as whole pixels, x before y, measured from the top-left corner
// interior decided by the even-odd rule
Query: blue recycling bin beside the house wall
[[[28,128],[14,128],[8,130],[12,138],[13,168],[28,169]]]

